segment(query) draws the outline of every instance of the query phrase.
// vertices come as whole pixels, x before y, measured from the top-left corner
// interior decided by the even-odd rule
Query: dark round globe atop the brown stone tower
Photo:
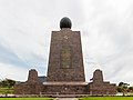
[[[61,19],[61,21],[60,21],[60,28],[61,29],[62,28],[70,28],[71,29],[71,27],[72,27],[72,22],[68,17],[64,17],[64,18]]]

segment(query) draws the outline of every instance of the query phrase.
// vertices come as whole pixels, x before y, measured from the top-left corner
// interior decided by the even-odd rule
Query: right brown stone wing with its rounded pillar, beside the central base
[[[90,94],[115,94],[116,84],[103,81],[103,74],[101,70],[95,70],[93,73],[92,82],[89,83]]]

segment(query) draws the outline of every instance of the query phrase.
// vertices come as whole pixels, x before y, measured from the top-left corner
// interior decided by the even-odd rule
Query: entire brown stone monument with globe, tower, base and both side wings
[[[34,69],[28,81],[16,84],[16,94],[115,94],[115,84],[103,81],[101,70],[95,70],[92,82],[85,82],[80,31],[71,30],[72,22],[64,17],[60,31],[52,31],[48,74],[45,81],[38,80]]]

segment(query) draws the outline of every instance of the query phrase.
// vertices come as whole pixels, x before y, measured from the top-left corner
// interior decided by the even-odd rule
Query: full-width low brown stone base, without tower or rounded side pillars
[[[115,84],[110,82],[43,82],[19,83],[14,87],[16,94],[42,94],[42,96],[110,96],[115,94]]]

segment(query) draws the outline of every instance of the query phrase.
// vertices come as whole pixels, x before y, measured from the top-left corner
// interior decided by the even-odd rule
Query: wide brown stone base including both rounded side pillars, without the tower
[[[35,76],[34,76],[35,74]],[[14,86],[14,94],[22,96],[45,96],[45,97],[81,97],[90,96],[109,96],[116,93],[116,84],[103,81],[101,70],[95,70],[92,82],[84,81],[45,81],[38,80],[38,72],[35,70],[29,71],[28,81]]]

